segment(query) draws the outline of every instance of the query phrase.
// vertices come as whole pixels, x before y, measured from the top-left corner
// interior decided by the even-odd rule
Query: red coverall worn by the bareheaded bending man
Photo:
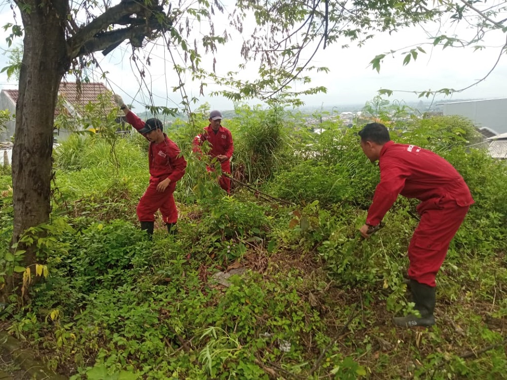
[[[379,224],[399,194],[419,199],[421,220],[408,248],[408,275],[434,287],[449,243],[474,203],[468,186],[449,162],[415,145],[388,141],[380,151],[379,167],[380,183],[366,223]]]

